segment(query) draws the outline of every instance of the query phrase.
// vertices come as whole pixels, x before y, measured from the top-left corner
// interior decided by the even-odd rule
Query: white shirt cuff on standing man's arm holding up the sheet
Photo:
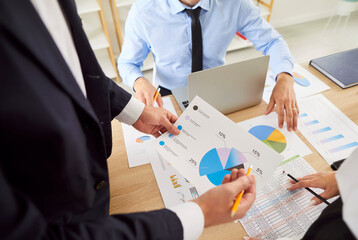
[[[131,97],[122,112],[116,116],[116,119],[122,123],[132,125],[138,120],[144,107],[144,103],[134,97]]]

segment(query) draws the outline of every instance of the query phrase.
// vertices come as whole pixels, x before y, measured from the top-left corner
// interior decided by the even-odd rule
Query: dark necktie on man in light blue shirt
[[[200,10],[200,7],[184,10],[191,18],[191,72],[203,70],[203,38],[199,20]]]

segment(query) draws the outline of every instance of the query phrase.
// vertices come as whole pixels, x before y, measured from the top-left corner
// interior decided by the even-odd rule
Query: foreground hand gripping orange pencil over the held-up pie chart
[[[193,200],[203,211],[205,227],[243,218],[255,200],[255,176],[246,176],[243,169],[233,169],[230,175],[224,177],[222,183],[222,185],[210,189]],[[245,192],[239,208],[234,218],[231,218],[231,208],[242,190],[245,190]]]

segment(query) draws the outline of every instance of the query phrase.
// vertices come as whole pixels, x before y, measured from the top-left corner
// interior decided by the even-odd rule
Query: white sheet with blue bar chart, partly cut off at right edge
[[[358,126],[323,95],[305,98],[299,107],[300,132],[329,164],[358,147]]]

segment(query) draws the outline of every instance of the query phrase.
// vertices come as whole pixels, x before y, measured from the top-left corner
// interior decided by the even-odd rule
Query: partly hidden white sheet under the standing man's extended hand
[[[177,116],[170,97],[164,97],[163,107]],[[155,139],[150,134],[137,131],[132,126],[122,123],[124,144],[126,146],[129,167],[136,167],[149,163],[150,141]]]

